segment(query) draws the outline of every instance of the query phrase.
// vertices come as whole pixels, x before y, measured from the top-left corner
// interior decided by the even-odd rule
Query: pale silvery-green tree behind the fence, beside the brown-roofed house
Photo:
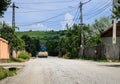
[[[102,43],[100,38],[100,33],[103,32],[111,25],[110,18],[102,17],[98,20],[95,20],[94,24],[89,26],[88,34],[85,35],[86,37],[86,46],[95,46]]]

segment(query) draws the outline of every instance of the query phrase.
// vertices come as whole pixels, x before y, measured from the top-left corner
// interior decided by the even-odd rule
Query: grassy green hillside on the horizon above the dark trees
[[[65,35],[65,31],[26,31],[26,32],[17,32],[19,37],[23,35],[28,35],[32,38],[39,38],[41,43],[45,43],[47,40],[53,37],[63,37]]]

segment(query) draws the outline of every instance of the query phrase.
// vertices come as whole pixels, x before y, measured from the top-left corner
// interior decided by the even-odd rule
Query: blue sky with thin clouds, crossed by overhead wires
[[[17,31],[65,30],[80,23],[79,3],[89,0],[12,0],[19,8],[15,9]],[[12,4],[11,4],[12,5]],[[95,19],[111,17],[112,0],[91,0],[83,4],[83,23],[93,24]],[[12,8],[4,14],[1,21],[12,24]]]

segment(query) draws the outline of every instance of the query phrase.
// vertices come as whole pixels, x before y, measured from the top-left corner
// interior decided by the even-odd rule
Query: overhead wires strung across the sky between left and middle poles
[[[69,3],[69,2],[73,2],[73,0],[65,0],[65,1],[43,1],[43,2],[33,2],[33,3],[16,3],[17,5],[19,5],[20,4],[20,6],[22,6],[22,5],[36,5],[36,4],[52,4],[52,3]],[[27,7],[29,7],[29,6],[27,6]],[[21,8],[21,7],[20,7]],[[22,9],[24,10],[24,7],[22,7]],[[48,19],[45,19],[45,20],[41,20],[41,21],[38,21],[38,22],[33,22],[33,23],[29,23],[29,24],[24,24],[24,23],[22,23],[22,25],[21,24],[18,24],[18,26],[31,26],[31,25],[33,25],[33,24],[38,24],[38,23],[43,23],[43,22],[48,22],[49,20],[52,20],[52,19],[55,19],[55,18],[57,18],[57,17],[60,17],[60,16],[62,16],[62,15],[65,15],[65,13],[67,12],[67,11],[71,11],[71,8],[70,7],[66,7],[66,8],[53,8],[53,9],[36,9],[36,8],[33,8],[32,7],[32,10],[31,10],[31,8],[28,8],[28,9],[30,9],[30,10],[25,10],[25,11],[16,11],[16,13],[43,13],[43,12],[56,12],[56,11],[61,11],[61,13],[60,14],[58,14],[58,15],[55,15],[55,16],[53,16],[53,17],[50,17],[50,18],[48,18]],[[75,7],[74,8],[72,8],[72,10],[73,9],[75,9]],[[11,13],[12,11],[8,11],[8,13]],[[50,21],[49,21],[50,22]],[[51,22],[55,22],[55,21],[51,21]]]

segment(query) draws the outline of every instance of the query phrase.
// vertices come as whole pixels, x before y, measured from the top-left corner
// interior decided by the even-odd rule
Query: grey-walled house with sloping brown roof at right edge
[[[120,23],[116,24],[116,44],[112,44],[113,25],[101,33],[101,38],[105,46],[105,57],[108,60],[120,59]]]

